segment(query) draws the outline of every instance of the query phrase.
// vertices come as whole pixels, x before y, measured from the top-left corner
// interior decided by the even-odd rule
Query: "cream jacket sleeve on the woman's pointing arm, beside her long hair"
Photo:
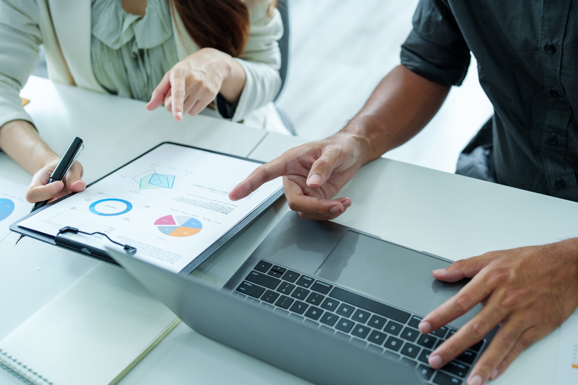
[[[235,58],[243,67],[246,80],[231,119],[234,122],[271,102],[281,87],[281,51],[277,40],[283,36],[283,22],[279,10],[273,9],[271,17],[267,12],[265,7],[259,7],[251,14],[249,40],[240,58]]]

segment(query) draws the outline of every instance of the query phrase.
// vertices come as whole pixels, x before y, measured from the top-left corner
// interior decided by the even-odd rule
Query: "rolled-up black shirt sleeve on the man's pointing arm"
[[[401,63],[435,83],[462,84],[470,50],[445,1],[420,0],[413,16],[413,30],[401,47]]]

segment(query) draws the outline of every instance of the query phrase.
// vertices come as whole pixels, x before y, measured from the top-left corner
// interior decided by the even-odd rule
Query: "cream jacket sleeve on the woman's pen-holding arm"
[[[38,63],[38,19],[35,0],[0,0],[0,127],[17,119],[32,122],[20,90]]]

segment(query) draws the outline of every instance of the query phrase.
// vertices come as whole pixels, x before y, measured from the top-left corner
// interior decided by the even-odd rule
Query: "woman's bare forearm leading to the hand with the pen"
[[[0,127],[0,149],[31,174],[58,159],[34,126],[23,120],[14,120]]]

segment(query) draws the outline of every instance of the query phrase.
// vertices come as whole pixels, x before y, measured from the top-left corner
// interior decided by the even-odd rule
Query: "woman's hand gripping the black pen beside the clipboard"
[[[48,183],[50,174],[54,171],[60,158],[55,155],[55,158],[49,160],[46,166],[38,170],[32,177],[32,182],[28,186],[26,192],[26,200],[30,203],[49,201],[61,198],[71,192],[80,192],[86,189],[86,183],[81,180],[83,169],[80,162],[72,163],[71,168],[66,173],[64,182],[55,181]]]

